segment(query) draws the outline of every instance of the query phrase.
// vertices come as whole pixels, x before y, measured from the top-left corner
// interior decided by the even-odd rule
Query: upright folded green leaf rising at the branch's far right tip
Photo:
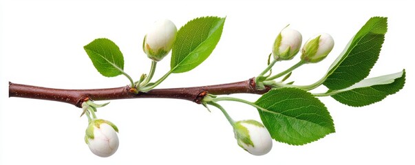
[[[367,77],[379,57],[386,31],[387,18],[369,19],[330,66],[323,85],[344,89]]]

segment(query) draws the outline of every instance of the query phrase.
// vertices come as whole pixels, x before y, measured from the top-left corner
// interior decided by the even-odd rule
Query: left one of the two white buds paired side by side
[[[290,60],[298,52],[303,38],[297,30],[284,28],[279,32],[273,45],[273,55],[275,59]]]

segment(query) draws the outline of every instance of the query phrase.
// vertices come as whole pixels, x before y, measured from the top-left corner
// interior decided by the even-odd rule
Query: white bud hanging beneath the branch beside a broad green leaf
[[[255,120],[235,122],[237,144],[252,155],[265,155],[273,148],[273,140],[263,124]]]

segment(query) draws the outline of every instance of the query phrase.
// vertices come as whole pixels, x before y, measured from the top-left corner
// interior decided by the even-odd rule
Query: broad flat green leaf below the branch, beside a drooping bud
[[[297,88],[272,89],[255,102],[273,139],[302,145],[334,133],[330,113],[319,99]]]

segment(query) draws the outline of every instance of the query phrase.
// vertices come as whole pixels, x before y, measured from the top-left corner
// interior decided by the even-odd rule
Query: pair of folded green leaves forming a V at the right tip
[[[353,107],[383,100],[405,85],[405,71],[365,79],[374,66],[387,32],[387,18],[372,17],[330,66],[323,83],[332,98]]]

